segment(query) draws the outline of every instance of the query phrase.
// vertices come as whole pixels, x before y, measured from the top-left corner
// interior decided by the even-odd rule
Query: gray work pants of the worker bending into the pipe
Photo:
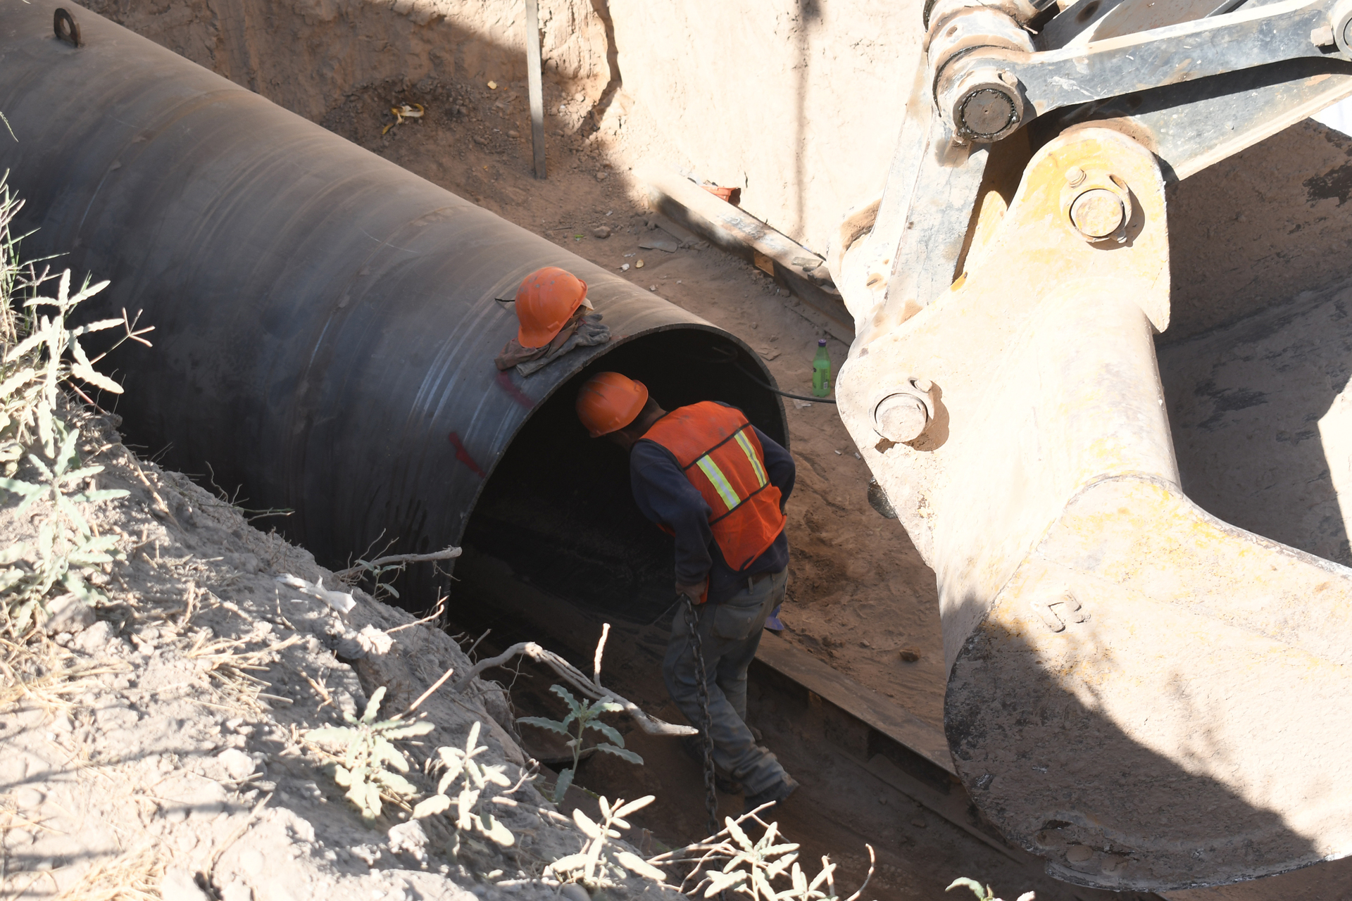
[[[788,570],[763,578],[721,604],[696,605],[704,674],[708,682],[710,735],[714,763],[756,794],[784,778],[775,755],[757,747],[746,727],[746,669],[756,657],[765,617],[784,600]],[[704,728],[695,675],[695,642],[684,604],[672,623],[672,638],[662,661],[667,690],[696,728]]]

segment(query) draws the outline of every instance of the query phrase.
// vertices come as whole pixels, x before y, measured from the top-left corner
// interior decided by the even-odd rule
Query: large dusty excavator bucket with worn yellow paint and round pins
[[[1218,115],[1192,86],[1000,145],[952,140],[930,35],[887,192],[831,266],[857,320],[841,416],[938,581],[960,778],[1086,886],[1352,854],[1352,569],[1188,498],[1155,343],[1165,182],[1348,93],[1348,65],[1234,113],[1222,150],[1176,124]]]

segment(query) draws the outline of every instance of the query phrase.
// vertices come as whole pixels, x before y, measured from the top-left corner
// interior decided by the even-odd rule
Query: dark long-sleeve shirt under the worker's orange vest
[[[771,485],[788,501],[796,474],[788,451],[752,427],[765,451],[765,474]],[[788,566],[788,538],[779,534],[769,548],[737,573],[723,559],[708,525],[710,508],[688,478],[680,471],[676,458],[657,442],[639,440],[629,454],[629,478],[634,501],[644,516],[668,525],[676,532],[676,581],[695,585],[708,577],[710,602],[725,601],[746,588],[746,577],[757,573],[777,573]]]

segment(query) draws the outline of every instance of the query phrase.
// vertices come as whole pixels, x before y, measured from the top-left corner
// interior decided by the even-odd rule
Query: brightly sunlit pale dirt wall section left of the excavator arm
[[[919,54],[915,0],[610,0],[625,92],[696,174],[825,253],[882,189]]]

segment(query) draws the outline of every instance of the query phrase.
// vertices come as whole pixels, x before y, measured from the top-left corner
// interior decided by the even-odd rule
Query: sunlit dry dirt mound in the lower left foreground
[[[72,413],[72,416],[77,416]],[[400,742],[420,796],[435,748],[462,748],[480,724],[511,786],[487,808],[511,847],[450,817],[410,820],[412,798],[364,820],[334,781],[338,756],[307,739],[341,725],[376,689],[389,716],[448,669],[470,663],[435,627],[357,589],[184,475],[138,461],[115,417],[81,423],[84,463],[116,501],[85,505],[124,562],[92,581],[108,604],[53,602],[50,638],[5,643],[0,679],[0,893],[23,897],[270,901],[324,897],[546,897],[545,865],[585,836],[527,782],[500,689],[449,685],[419,706],[433,731]],[[0,546],[38,544],[50,504],[0,513]],[[37,562],[37,561],[31,561]],[[289,574],[350,592],[346,613]],[[341,748],[338,751],[341,754]],[[488,796],[511,804],[491,804]],[[458,838],[457,838],[458,832]],[[458,850],[457,850],[458,848]],[[612,893],[641,894],[631,878]],[[210,893],[210,894],[208,894]]]

